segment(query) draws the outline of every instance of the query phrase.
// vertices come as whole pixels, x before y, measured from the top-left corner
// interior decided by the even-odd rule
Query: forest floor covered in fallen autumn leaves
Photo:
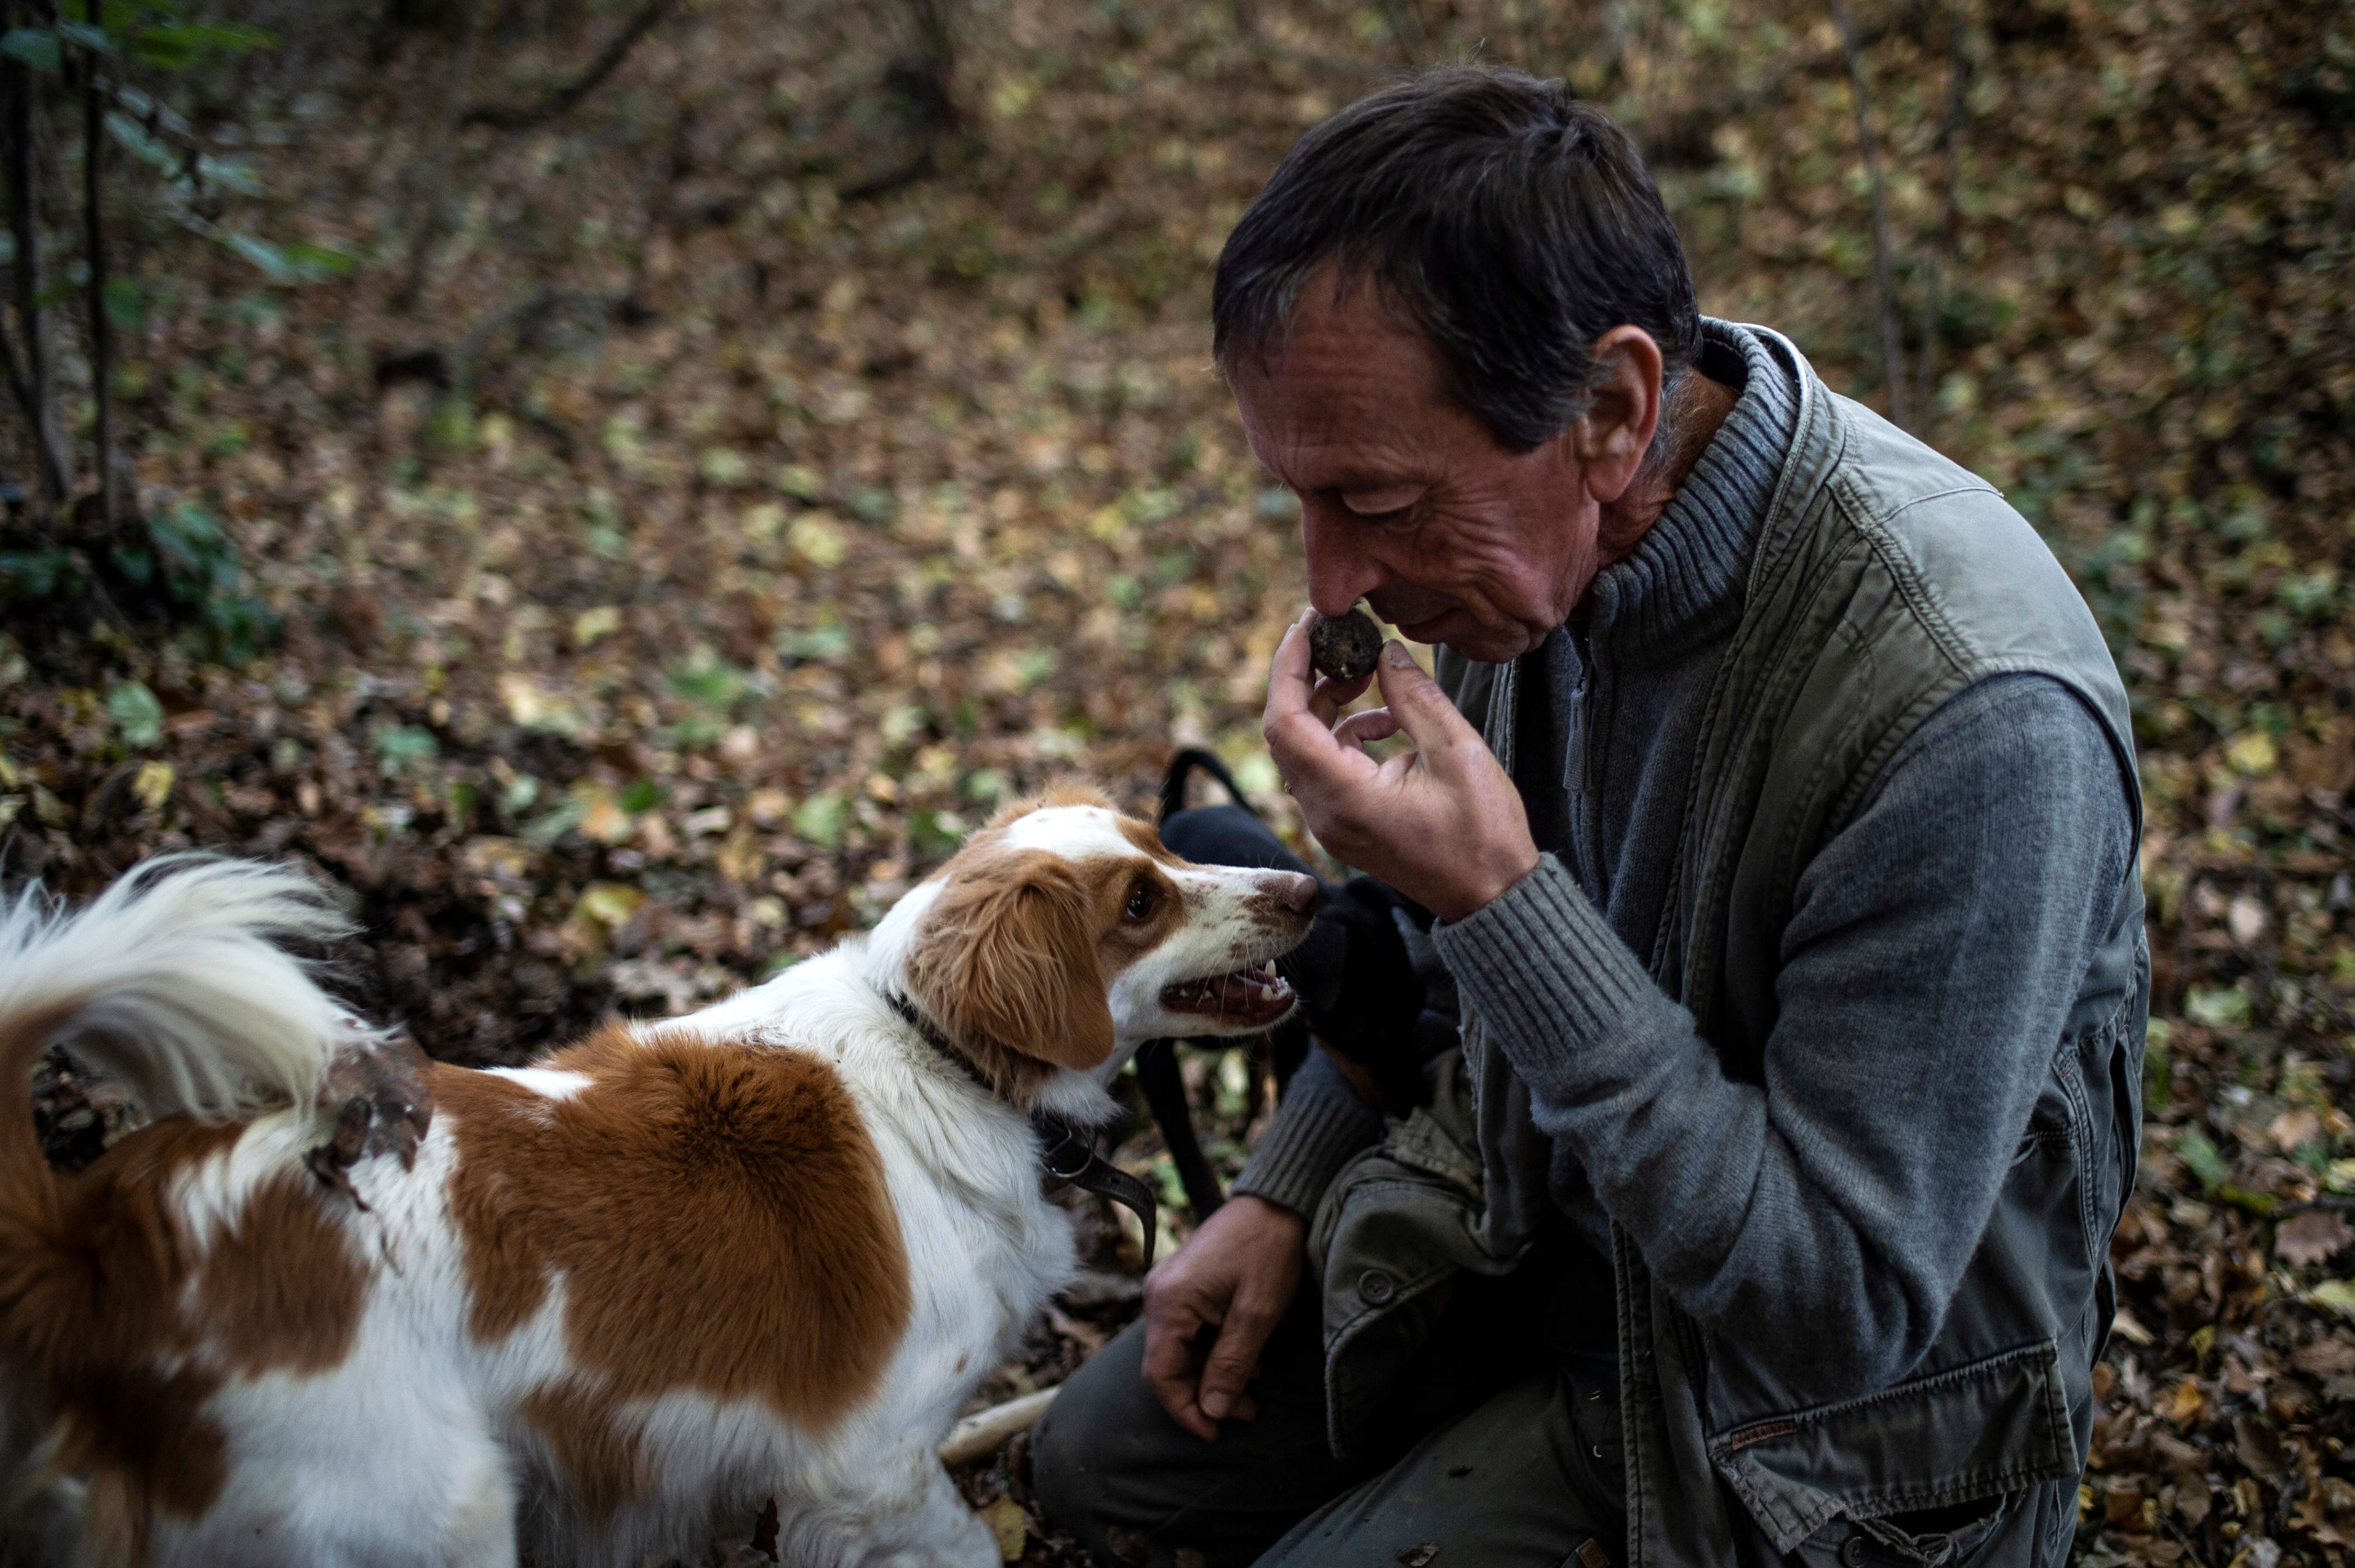
[[[1050,777],[1142,810],[1196,742],[1291,822],[1258,709],[1295,506],[1210,370],[1210,261],[1380,71],[1568,66],[1653,155],[1705,308],[2002,485],[2127,673],[2157,989],[2079,1559],[2355,1561],[2355,24],[1971,0],[1957,42],[1860,9],[1893,377],[1830,12],[1251,12],[975,2],[928,162],[871,7],[702,0],[570,115],[455,134],[433,106],[528,97],[622,7],[483,40],[459,89],[443,33],[285,24],[200,122],[264,228],[360,266],[273,283],[127,228],[139,490],[219,570],[162,617],[0,558],[9,881],[299,857],[353,892],[358,1003],[518,1062],[857,930]],[[1260,1071],[1187,1059],[1229,1172]],[[68,1161],[120,1123],[71,1071],[40,1104]],[[1088,1236],[991,1396],[1135,1314],[1137,1238]],[[1072,1561],[1022,1504],[1024,1561]]]

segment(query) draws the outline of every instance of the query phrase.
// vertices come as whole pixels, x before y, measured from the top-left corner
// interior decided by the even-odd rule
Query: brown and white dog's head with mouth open
[[[1104,1083],[1145,1041],[1283,1022],[1295,998],[1274,961],[1314,911],[1309,876],[1196,866],[1102,796],[1053,791],[902,899],[871,956],[1027,1104],[1055,1069]]]

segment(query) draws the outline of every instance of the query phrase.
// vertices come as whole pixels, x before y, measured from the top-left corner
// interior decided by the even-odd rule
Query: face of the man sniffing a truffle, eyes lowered
[[[1599,506],[1573,424],[1535,452],[1498,445],[1446,391],[1432,341],[1373,285],[1309,278],[1279,353],[1239,363],[1251,450],[1300,497],[1309,600],[1356,596],[1418,643],[1512,659],[1561,626],[1601,565]]]

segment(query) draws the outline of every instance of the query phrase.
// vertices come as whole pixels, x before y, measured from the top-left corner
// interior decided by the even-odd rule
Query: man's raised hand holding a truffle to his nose
[[[1276,647],[1260,735],[1316,843],[1441,921],[1462,921],[1528,876],[1538,845],[1521,796],[1439,683],[1389,643],[1375,666],[1389,706],[1340,718],[1366,680],[1312,687],[1307,622]],[[1415,749],[1382,763],[1366,756],[1366,742],[1392,735]]]

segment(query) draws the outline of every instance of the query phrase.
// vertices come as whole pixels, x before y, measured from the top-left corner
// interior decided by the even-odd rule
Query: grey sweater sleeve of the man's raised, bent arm
[[[1957,695],[1802,873],[1759,1083],[1719,1069],[1552,857],[1439,949],[1653,1276],[1842,1398],[1938,1335],[2131,838],[2115,751],[2068,687]]]

